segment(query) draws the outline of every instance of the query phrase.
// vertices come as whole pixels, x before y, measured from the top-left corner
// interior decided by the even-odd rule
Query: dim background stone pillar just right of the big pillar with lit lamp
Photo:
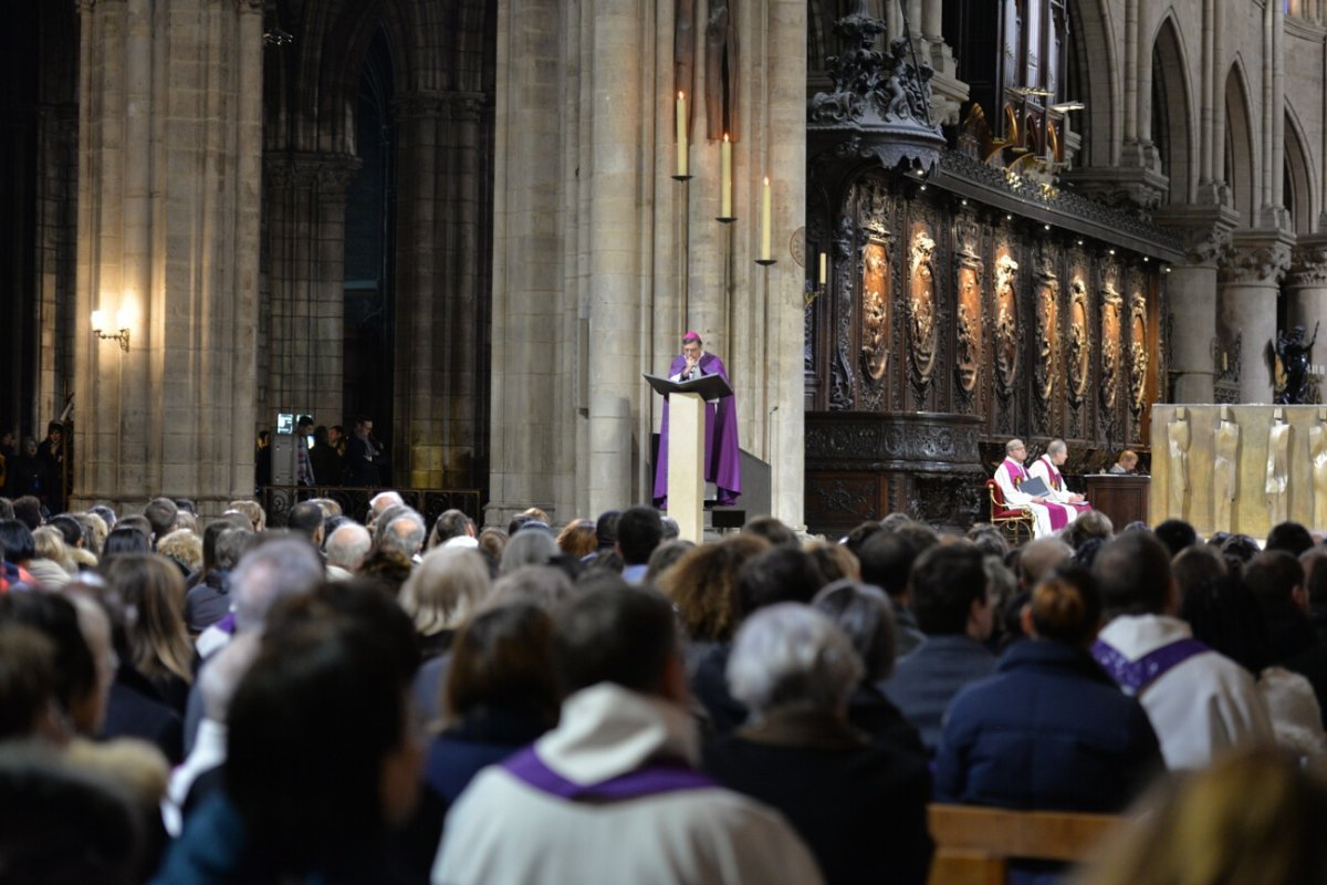
[[[341,402],[345,200],[360,166],[345,154],[272,151],[263,158],[272,272],[260,426],[288,410],[349,426]]]

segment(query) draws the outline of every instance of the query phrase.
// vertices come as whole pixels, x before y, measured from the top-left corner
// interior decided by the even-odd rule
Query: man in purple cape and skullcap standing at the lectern
[[[723,361],[706,353],[697,332],[682,336],[682,353],[667,370],[669,381],[691,381],[703,375],[722,375],[729,381]],[[731,385],[731,381],[729,381]],[[705,403],[705,480],[718,488],[718,503],[735,504],[742,494],[742,464],[738,448],[738,414],[735,397]],[[667,401],[660,422],[660,451],[654,459],[654,506],[667,508]]]

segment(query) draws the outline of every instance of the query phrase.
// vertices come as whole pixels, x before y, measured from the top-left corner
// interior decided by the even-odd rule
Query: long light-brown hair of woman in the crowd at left
[[[123,553],[106,560],[101,573],[119,655],[149,678],[174,674],[192,682],[179,568],[155,553]]]

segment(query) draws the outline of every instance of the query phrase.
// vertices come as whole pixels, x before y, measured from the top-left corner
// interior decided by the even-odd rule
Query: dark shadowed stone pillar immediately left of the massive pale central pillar
[[[402,186],[393,447],[397,482],[415,488],[482,483],[475,452],[487,425],[487,103],[483,93],[464,92],[395,100]]]

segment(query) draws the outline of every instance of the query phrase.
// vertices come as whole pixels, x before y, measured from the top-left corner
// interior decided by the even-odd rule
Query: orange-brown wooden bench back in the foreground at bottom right
[[[936,840],[929,885],[1005,885],[1011,860],[1080,862],[1125,823],[1115,815],[938,803],[928,817]]]

